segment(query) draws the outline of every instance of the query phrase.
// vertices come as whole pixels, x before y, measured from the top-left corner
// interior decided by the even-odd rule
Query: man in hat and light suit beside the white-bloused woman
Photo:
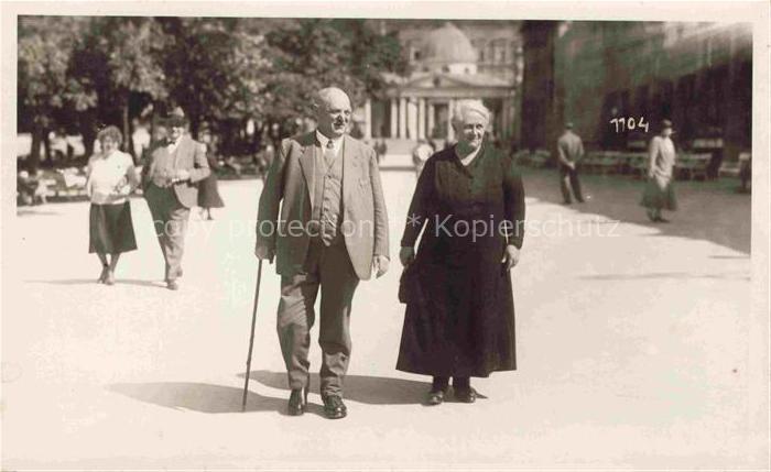
[[[162,119],[167,136],[146,153],[142,186],[165,260],[166,287],[178,288],[182,254],[191,208],[198,204],[197,183],[210,174],[203,144],[186,134],[187,120],[181,108]]]

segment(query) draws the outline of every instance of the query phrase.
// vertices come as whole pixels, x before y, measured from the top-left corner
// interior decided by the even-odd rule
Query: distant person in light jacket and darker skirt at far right
[[[661,216],[662,210],[677,209],[673,182],[673,171],[676,161],[675,146],[672,142],[672,122],[663,120],[661,132],[653,136],[649,146],[648,184],[642,194],[640,205],[648,209],[648,218],[655,223],[667,223]]]

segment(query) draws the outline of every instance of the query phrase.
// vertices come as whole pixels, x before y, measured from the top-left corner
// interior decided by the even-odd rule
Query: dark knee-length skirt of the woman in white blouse
[[[137,249],[131,205],[91,204],[89,212],[89,253],[118,254]]]

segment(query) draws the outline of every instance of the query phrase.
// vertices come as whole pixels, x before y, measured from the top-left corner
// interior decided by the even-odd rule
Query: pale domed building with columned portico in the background
[[[365,138],[454,141],[449,120],[460,99],[482,100],[492,112],[490,132],[512,136],[521,80],[517,22],[381,20],[380,28],[398,32],[412,72],[388,74],[387,99],[366,103]]]

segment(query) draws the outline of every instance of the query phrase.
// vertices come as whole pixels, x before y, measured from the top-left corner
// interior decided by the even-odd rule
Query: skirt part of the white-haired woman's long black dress
[[[501,246],[489,246],[463,255],[438,251],[457,265],[421,261],[419,252],[414,273],[402,281],[406,311],[397,370],[487,377],[517,369],[511,277],[500,263]]]

